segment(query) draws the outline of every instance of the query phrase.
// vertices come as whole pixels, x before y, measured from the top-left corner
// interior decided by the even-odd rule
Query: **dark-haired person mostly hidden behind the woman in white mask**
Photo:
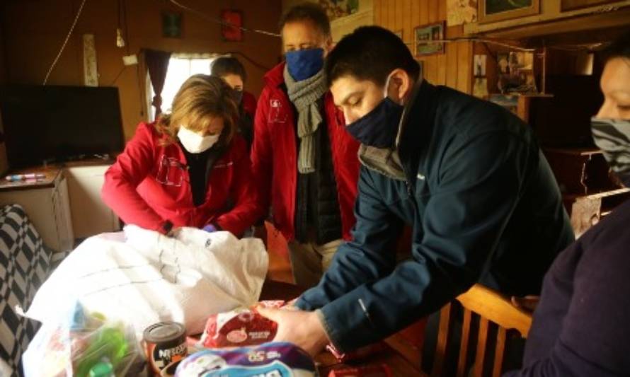
[[[256,115],[256,97],[245,90],[247,73],[239,59],[218,57],[210,66],[210,74],[224,79],[234,90],[236,104],[239,105],[239,127],[236,132],[247,141],[248,150],[253,141],[253,117]]]

